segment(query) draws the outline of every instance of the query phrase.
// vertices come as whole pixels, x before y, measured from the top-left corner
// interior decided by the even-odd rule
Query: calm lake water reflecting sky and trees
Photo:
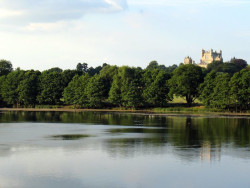
[[[250,187],[250,117],[2,112],[0,187]]]

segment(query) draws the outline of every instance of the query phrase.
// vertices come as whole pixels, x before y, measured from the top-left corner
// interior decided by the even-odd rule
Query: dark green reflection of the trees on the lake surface
[[[249,148],[250,119],[157,116],[109,112],[6,112],[0,122],[63,122],[118,125],[108,129],[115,138],[104,140],[111,155],[168,152],[189,159],[219,159],[221,147]],[[127,128],[120,125],[129,126]],[[1,135],[1,133],[0,133]]]

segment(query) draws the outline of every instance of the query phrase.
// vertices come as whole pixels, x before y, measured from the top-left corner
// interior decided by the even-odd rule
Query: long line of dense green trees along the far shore
[[[182,63],[141,67],[78,63],[74,70],[13,70],[0,60],[0,105],[73,105],[75,108],[168,107],[175,96],[188,106],[195,99],[209,108],[249,109],[250,69],[245,60],[213,62],[208,68]]]

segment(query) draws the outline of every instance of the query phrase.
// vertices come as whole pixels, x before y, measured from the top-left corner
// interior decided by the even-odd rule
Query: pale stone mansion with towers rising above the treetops
[[[213,49],[209,51],[201,50],[201,60],[199,64],[196,64],[195,61],[192,60],[191,57],[187,56],[184,59],[184,64],[196,64],[200,67],[207,68],[207,65],[212,63],[213,61],[223,61],[222,51],[219,52],[214,51]]]

